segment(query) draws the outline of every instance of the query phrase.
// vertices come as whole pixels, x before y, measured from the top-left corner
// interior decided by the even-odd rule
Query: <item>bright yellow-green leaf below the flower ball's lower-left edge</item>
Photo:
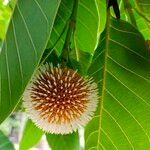
[[[43,135],[42,130],[37,128],[31,120],[26,122],[23,136],[20,141],[20,150],[27,150],[36,145]]]

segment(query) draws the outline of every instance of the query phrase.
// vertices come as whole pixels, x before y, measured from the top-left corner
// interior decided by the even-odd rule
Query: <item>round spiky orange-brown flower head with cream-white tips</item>
[[[85,126],[96,109],[98,92],[92,78],[76,71],[40,67],[23,96],[32,121],[43,131],[68,134]]]

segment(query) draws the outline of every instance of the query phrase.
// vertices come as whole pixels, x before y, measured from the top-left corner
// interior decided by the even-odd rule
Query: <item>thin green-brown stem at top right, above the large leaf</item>
[[[128,16],[130,18],[131,23],[135,27],[137,27],[136,20],[135,20],[133,10],[132,10],[132,6],[131,6],[129,0],[123,0],[123,4],[124,4],[125,11],[127,12]]]

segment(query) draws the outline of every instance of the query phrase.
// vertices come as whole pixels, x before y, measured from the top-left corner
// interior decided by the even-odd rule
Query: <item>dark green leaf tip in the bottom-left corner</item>
[[[13,144],[2,131],[0,131],[0,150],[15,150]]]

